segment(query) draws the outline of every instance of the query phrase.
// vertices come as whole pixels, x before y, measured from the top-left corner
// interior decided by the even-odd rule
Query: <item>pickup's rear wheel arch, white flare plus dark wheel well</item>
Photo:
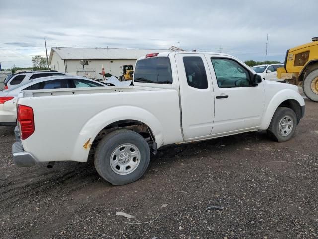
[[[107,132],[116,129],[130,129],[143,137],[146,136],[145,129],[147,129],[148,135],[155,143],[151,145],[155,150],[157,145],[163,142],[162,125],[151,112],[135,106],[118,106],[99,112],[83,125],[74,144],[72,159],[86,162],[93,146],[96,145],[98,134],[104,132],[106,135]]]

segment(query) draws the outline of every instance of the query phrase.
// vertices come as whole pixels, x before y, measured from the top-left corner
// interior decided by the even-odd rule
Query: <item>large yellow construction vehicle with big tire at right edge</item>
[[[294,85],[302,84],[304,94],[318,102],[318,37],[287,50],[284,64],[277,69],[277,78]]]

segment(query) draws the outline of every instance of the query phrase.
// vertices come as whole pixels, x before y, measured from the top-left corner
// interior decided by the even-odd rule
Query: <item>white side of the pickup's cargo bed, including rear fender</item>
[[[23,148],[42,162],[86,162],[89,150],[83,145],[92,143],[103,128],[121,120],[146,124],[158,148],[183,141],[175,89],[128,86],[30,90],[21,93],[18,104],[30,106],[34,112],[35,131],[22,140]]]

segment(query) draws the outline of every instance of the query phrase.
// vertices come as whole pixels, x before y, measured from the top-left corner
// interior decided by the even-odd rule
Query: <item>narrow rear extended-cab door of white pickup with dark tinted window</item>
[[[202,54],[176,54],[180,85],[182,130],[185,139],[211,134],[214,93],[207,61]]]

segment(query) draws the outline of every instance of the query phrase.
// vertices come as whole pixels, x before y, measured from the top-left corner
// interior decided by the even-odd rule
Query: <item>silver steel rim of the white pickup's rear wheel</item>
[[[131,143],[115,148],[110,157],[111,169],[119,175],[127,175],[136,170],[140,163],[140,151]]]

